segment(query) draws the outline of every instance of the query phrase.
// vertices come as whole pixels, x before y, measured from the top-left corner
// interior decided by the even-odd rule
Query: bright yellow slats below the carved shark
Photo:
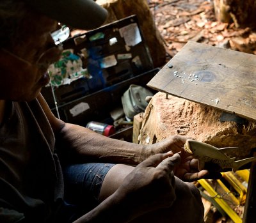
[[[234,223],[242,223],[250,171],[243,169],[236,173],[230,171],[221,174],[222,178],[219,180],[198,180],[201,186],[198,188],[205,199],[204,220],[212,222],[218,210],[221,219],[229,217]],[[207,205],[207,202],[210,205]],[[212,209],[212,206],[216,210]]]

